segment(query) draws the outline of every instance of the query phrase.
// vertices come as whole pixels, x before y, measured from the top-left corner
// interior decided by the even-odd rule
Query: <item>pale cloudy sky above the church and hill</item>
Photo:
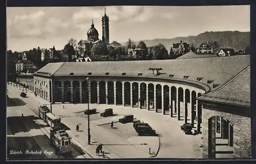
[[[249,6],[7,7],[7,50],[61,50],[70,38],[87,40],[92,19],[102,39],[104,8],[110,42],[250,31]]]

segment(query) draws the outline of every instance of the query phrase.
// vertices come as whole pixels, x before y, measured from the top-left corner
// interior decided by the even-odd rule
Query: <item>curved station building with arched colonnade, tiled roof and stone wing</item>
[[[218,149],[218,137],[220,142],[227,142],[226,146],[234,148],[226,153],[234,157],[248,157],[251,142],[247,142],[247,146],[237,141],[239,137],[251,140],[248,114],[250,90],[248,87],[236,89],[235,86],[243,84],[237,83],[236,79],[249,80],[249,66],[250,55],[48,63],[33,74],[34,82],[30,89],[52,103],[89,101],[169,114],[172,118],[193,124],[198,132],[202,132],[204,157],[219,157],[219,152],[215,151]],[[236,96],[236,92],[243,90],[246,96]],[[226,97],[221,98],[218,92]],[[231,98],[228,101],[227,97],[239,98],[237,101]],[[242,99],[246,99],[245,104],[239,104],[243,102]],[[213,130],[216,125],[219,126],[218,122],[222,130]],[[241,130],[236,131],[238,127],[246,127],[243,128],[243,134]],[[217,131],[218,134],[214,134]],[[241,147],[243,149],[239,150]]]

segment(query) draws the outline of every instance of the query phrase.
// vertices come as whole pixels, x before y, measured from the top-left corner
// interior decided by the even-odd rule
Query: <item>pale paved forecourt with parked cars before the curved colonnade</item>
[[[28,97],[40,102],[41,105],[47,104],[50,107],[49,102],[38,97],[35,98],[31,91],[28,93]],[[55,115],[61,116],[61,122],[71,129],[67,132],[73,137],[74,142],[93,158],[100,158],[100,156],[95,155],[95,148],[99,143],[103,144],[103,151],[109,153],[106,154],[109,158],[202,157],[201,134],[185,135],[180,129],[183,121],[177,121],[177,118],[170,118],[169,115],[155,111],[129,106],[90,104],[90,108],[96,108],[98,112],[102,112],[106,108],[113,108],[114,114],[117,115],[108,118],[100,117],[99,113],[90,115],[92,145],[88,145],[87,115],[83,114],[87,106],[87,104],[53,104],[52,110]],[[118,119],[122,118],[124,114],[134,114],[135,118],[150,124],[159,134],[159,137],[138,136],[131,123],[114,123],[115,128],[110,128],[109,123],[111,121],[118,122]],[[81,131],[75,130],[77,124],[80,124]],[[151,148],[152,154],[149,154],[148,148]]]

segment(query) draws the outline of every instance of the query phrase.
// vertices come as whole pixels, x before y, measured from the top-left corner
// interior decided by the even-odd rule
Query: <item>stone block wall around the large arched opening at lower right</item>
[[[231,109],[231,108],[230,108]],[[208,158],[208,119],[222,116],[233,126],[233,157],[251,157],[251,119],[247,116],[202,108],[203,158]]]

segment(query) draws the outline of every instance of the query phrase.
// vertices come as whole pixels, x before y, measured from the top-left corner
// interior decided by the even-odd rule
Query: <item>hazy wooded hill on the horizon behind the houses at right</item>
[[[188,44],[194,44],[197,48],[204,41],[217,41],[219,48],[232,48],[235,51],[244,50],[250,46],[250,32],[239,31],[221,31],[221,32],[204,32],[197,36],[176,37],[172,39],[153,39],[142,40],[147,46],[154,46],[159,43],[164,44],[165,48],[169,51],[173,43],[184,41]],[[139,41],[135,41],[136,45]],[[125,43],[122,43],[125,45]]]

